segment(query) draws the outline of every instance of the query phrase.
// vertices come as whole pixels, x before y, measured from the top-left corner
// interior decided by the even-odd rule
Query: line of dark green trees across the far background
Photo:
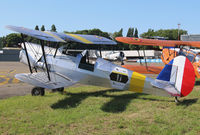
[[[35,30],[45,31],[45,26],[42,25],[41,28],[39,28],[38,25],[35,26]],[[51,26],[50,31],[57,32],[56,26],[53,24]],[[64,31],[64,33],[73,33],[73,34],[88,34],[88,35],[98,35],[102,37],[106,37],[112,40],[115,40],[115,37],[123,37],[123,28],[121,28],[119,31],[116,31],[114,33],[108,33],[103,32],[100,29],[94,28],[89,30],[77,30],[75,32],[69,32]],[[179,30],[179,35],[187,34],[186,30]],[[157,31],[154,31],[153,29],[148,29],[147,32],[144,32],[140,34],[141,38],[153,38],[155,36],[164,37],[168,40],[178,40],[180,37],[178,37],[178,29],[160,29]],[[138,29],[130,27],[126,33],[126,37],[135,37],[138,38]],[[33,43],[40,43],[38,39],[26,36],[25,40],[28,42]],[[5,37],[0,37],[0,48],[2,47],[17,47],[19,43],[21,43],[21,35],[18,33],[11,33]],[[51,46],[54,46],[54,43],[50,44]],[[61,43],[60,45],[64,45]],[[71,49],[99,49],[98,45],[82,45],[80,43],[68,43],[68,48]],[[128,45],[124,43],[118,42],[116,46],[101,46],[101,49],[105,50],[140,50],[140,49],[158,49],[158,47],[153,46],[137,46],[137,45]]]

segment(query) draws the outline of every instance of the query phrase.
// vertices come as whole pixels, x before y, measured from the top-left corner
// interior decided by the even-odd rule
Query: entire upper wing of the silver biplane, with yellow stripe
[[[27,29],[24,27],[17,27],[8,25],[6,28],[32,36],[41,40],[52,41],[52,42],[79,42],[82,44],[99,44],[99,45],[116,45],[117,43],[105,37],[96,35],[83,35],[83,34],[70,34],[70,33],[57,33],[51,31],[38,31]]]

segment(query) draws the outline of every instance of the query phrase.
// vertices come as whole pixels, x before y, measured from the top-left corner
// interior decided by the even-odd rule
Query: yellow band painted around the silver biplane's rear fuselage
[[[133,72],[131,81],[130,81],[129,91],[141,93],[144,88],[145,79],[146,79],[146,76],[139,74],[137,72]]]

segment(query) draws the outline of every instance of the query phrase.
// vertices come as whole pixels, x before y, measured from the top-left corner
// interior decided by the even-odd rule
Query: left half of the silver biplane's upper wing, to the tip
[[[51,35],[45,31],[39,31],[39,30],[32,30],[32,29],[28,29],[28,28],[24,28],[24,27],[17,27],[17,26],[11,26],[8,25],[6,26],[6,28],[31,36],[31,37],[35,37],[41,40],[46,40],[46,41],[51,41],[51,42],[65,42],[63,39],[61,39],[60,37],[57,37],[55,35]]]

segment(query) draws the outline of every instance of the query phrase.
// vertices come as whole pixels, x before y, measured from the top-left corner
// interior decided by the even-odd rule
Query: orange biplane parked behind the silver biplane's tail
[[[200,48],[200,41],[177,41],[177,40],[155,40],[155,39],[140,39],[132,37],[117,37],[117,41],[132,44],[132,45],[144,45],[144,46],[162,46],[167,47],[162,50],[161,59],[163,63],[168,64],[172,59],[178,55],[186,56],[195,69],[195,75],[200,78],[200,55],[190,49],[183,48],[183,46],[197,47]],[[175,47],[181,47],[180,49],[175,49]],[[134,70],[134,66],[124,65],[125,68]],[[147,67],[151,71],[151,67]],[[153,67],[159,71],[162,67]],[[144,70],[143,70],[144,71]]]

